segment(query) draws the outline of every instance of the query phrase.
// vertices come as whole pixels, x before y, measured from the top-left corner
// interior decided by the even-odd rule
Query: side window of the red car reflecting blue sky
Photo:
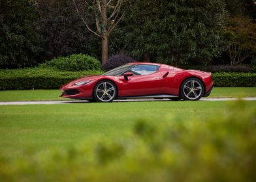
[[[149,75],[151,73],[157,72],[159,66],[156,65],[147,65],[147,64],[140,64],[133,68],[131,68],[131,72],[135,75]]]

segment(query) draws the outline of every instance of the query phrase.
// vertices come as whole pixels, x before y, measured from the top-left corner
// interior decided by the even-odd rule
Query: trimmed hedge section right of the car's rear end
[[[213,74],[214,86],[256,86],[256,73]]]

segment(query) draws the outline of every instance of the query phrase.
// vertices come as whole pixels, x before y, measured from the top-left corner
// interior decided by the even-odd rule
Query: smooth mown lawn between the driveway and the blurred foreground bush
[[[233,101],[153,101],[0,106],[0,155],[28,157],[98,136],[128,135],[141,118],[191,121],[225,112]],[[228,104],[227,104],[228,103]],[[255,108],[256,101],[246,107]]]

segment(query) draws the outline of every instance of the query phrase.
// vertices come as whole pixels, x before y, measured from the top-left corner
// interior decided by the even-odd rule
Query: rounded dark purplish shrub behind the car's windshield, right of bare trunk
[[[103,70],[107,72],[108,70],[112,70],[113,68],[126,64],[128,62],[136,61],[126,55],[114,55],[114,57],[106,60],[106,62],[103,64]]]

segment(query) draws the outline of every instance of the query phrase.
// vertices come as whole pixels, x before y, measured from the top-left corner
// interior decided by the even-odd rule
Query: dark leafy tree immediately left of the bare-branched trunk
[[[49,60],[74,53],[100,57],[97,54],[99,40],[90,32],[84,31],[84,23],[71,0],[37,0],[35,3],[40,16],[37,20],[37,32],[43,48],[40,59]],[[78,2],[78,6],[82,5],[83,3]],[[92,20],[88,21],[88,25],[92,24]]]

